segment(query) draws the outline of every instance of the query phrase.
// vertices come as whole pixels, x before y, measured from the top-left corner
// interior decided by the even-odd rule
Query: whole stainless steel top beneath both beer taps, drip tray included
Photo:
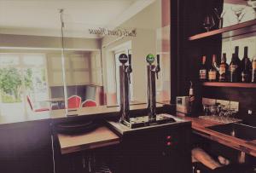
[[[163,120],[162,120],[162,118],[163,118]],[[147,123],[148,121],[142,122],[143,121],[142,119],[148,120],[147,118],[145,118],[145,116],[138,118],[137,121],[140,123],[133,123],[132,124],[133,128],[131,128],[131,126],[128,126],[128,124],[122,124],[122,123],[114,122],[114,121],[108,121],[108,124],[110,125],[111,128],[113,128],[113,130],[116,130],[117,132],[119,132],[119,134],[124,135],[126,133],[131,133],[131,132],[135,132],[138,130],[147,130],[147,129],[153,129],[153,128],[158,128],[158,127],[162,127],[162,126],[190,123],[187,120],[183,120],[181,118],[177,118],[173,115],[166,114],[166,113],[158,114],[157,115],[158,121],[156,121],[156,123],[151,123],[151,122]]]

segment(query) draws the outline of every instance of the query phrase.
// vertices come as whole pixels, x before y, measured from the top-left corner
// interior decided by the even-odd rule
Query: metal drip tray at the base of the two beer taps
[[[148,116],[130,118],[130,122],[124,121],[123,124],[130,127],[131,129],[158,125],[158,124],[167,124],[176,122],[174,118],[170,117],[170,115],[166,113],[161,113],[156,115],[156,119],[150,120]]]

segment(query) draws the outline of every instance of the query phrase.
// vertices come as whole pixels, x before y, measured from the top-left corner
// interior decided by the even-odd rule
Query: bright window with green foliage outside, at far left
[[[49,99],[45,55],[0,54],[0,62],[2,115],[26,113],[27,95],[34,107]]]

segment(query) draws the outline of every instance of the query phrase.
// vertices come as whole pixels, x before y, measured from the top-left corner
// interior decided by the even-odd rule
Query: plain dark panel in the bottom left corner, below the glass
[[[49,122],[0,126],[0,172],[53,172]]]

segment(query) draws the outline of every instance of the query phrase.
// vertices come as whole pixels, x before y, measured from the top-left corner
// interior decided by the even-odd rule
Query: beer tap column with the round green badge
[[[157,57],[157,66],[152,65],[154,62],[154,55],[147,55],[147,70],[148,70],[148,89],[147,89],[147,97],[148,97],[148,120],[149,122],[156,121],[156,98],[155,98],[155,75],[158,79],[158,72],[160,72],[160,55],[156,55]]]

